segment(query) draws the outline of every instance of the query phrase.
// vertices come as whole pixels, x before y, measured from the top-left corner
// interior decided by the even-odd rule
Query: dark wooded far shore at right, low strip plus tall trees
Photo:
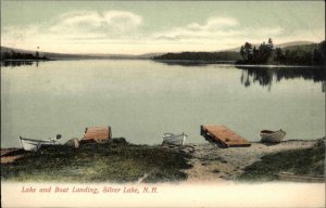
[[[267,43],[254,46],[246,42],[239,52],[181,52],[154,56],[156,61],[204,61],[235,62],[238,65],[323,65],[325,64],[325,41],[321,43],[275,48],[269,38]]]

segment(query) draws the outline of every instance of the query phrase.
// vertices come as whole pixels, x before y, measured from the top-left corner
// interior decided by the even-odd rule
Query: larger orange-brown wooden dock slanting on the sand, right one
[[[250,146],[250,142],[225,126],[205,125],[200,127],[200,134],[205,140],[221,147]]]

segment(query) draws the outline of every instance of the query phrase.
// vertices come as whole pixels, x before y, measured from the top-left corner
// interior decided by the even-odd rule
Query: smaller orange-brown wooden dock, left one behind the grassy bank
[[[88,127],[85,129],[85,133],[82,143],[103,143],[112,139],[111,127]]]

